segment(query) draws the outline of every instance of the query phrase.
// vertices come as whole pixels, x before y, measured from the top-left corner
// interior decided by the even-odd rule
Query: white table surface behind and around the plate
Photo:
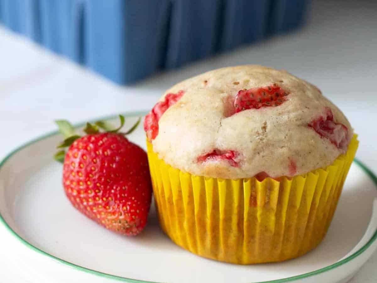
[[[377,172],[377,2],[313,1],[305,28],[121,87],[0,27],[0,159],[55,129],[57,118],[89,118],[150,109],[173,83],[222,66],[256,63],[284,68],[322,89],[359,134],[357,158]],[[26,252],[0,225],[0,281],[40,282],[25,272]],[[349,282],[377,280],[377,253]],[[38,269],[39,268],[39,269]],[[68,275],[67,275],[68,276]],[[69,278],[63,278],[66,282]],[[58,281],[57,281],[58,282]]]

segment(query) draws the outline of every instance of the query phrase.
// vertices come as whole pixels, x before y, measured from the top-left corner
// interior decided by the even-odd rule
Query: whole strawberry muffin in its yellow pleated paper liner
[[[195,254],[238,264],[317,246],[358,145],[316,86],[255,65],[178,83],[144,129],[164,232]]]

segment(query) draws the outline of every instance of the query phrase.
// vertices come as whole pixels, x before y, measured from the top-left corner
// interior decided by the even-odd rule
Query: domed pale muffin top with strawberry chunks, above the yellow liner
[[[214,178],[305,174],[333,163],[353,134],[316,86],[256,65],[176,84],[147,114],[144,129],[166,163]]]

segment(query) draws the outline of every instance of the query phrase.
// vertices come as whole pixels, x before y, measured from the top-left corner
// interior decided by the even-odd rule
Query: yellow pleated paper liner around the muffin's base
[[[332,165],[280,181],[191,175],[158,158],[147,142],[160,225],[179,246],[237,264],[282,261],[326,234],[359,142]]]

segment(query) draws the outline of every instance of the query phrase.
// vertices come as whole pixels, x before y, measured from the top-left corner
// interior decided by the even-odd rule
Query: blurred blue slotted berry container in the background
[[[308,0],[0,0],[0,22],[123,85],[297,28],[307,5]]]

